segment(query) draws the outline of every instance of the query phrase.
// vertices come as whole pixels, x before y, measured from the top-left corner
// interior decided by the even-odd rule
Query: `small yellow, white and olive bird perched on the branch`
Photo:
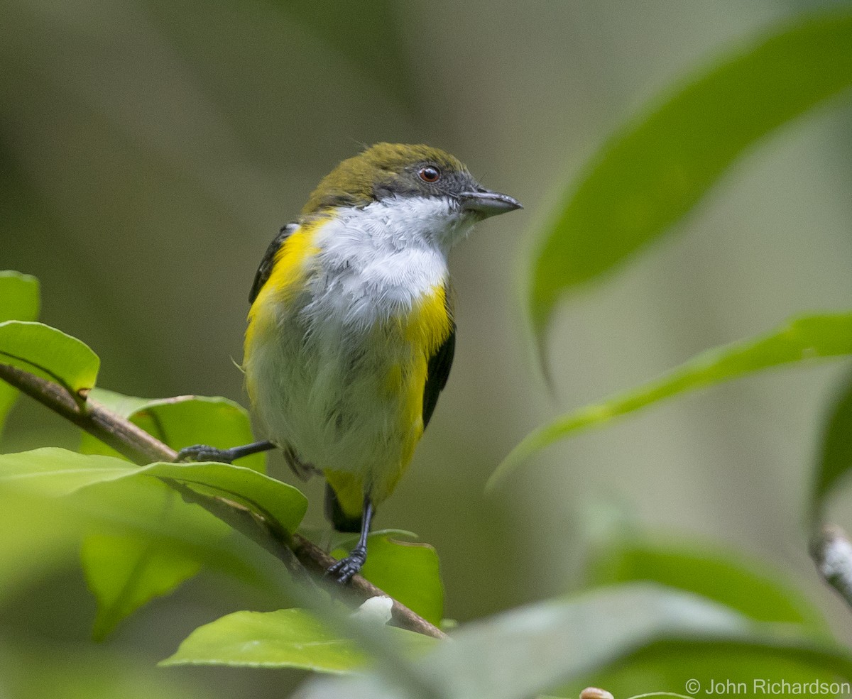
[[[447,255],[475,223],[514,209],[437,148],[379,143],[344,160],[269,245],[251,287],[243,367],[268,441],[181,458],[280,447],[300,477],[322,473],[331,523],[360,532],[328,573],[348,582],[450,373]]]

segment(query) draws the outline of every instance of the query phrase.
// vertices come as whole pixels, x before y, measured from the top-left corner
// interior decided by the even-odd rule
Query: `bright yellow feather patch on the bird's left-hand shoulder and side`
[[[251,356],[256,341],[263,341],[277,327],[277,309],[285,305],[302,289],[308,261],[320,249],[316,246],[316,233],[320,226],[331,221],[331,215],[316,218],[302,224],[289,236],[275,254],[272,273],[249,310],[249,324],[245,330],[243,363]],[[255,399],[254,387],[247,384],[249,398]]]

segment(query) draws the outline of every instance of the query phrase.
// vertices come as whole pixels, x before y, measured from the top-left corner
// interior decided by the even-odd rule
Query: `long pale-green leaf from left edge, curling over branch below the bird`
[[[230,464],[153,463],[135,467],[113,456],[52,448],[0,455],[0,483],[18,484],[46,496],[68,495],[119,478],[146,477],[171,478],[201,493],[238,501],[288,532],[296,530],[308,507],[305,496],[291,485]]]

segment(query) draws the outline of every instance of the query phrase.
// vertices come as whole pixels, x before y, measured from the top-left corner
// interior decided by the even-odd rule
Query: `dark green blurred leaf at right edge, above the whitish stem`
[[[826,497],[849,469],[852,469],[852,376],[841,388],[822,435],[820,462],[811,493],[813,519],[819,519]]]

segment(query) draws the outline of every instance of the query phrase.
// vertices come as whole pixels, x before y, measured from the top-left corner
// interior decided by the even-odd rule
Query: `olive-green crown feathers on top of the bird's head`
[[[347,158],[325,175],[308,198],[302,215],[340,206],[366,206],[375,201],[376,192],[394,191],[418,166],[431,164],[444,173],[468,175],[458,158],[431,146],[401,143],[377,143],[353,158]],[[411,184],[407,184],[411,191]]]

